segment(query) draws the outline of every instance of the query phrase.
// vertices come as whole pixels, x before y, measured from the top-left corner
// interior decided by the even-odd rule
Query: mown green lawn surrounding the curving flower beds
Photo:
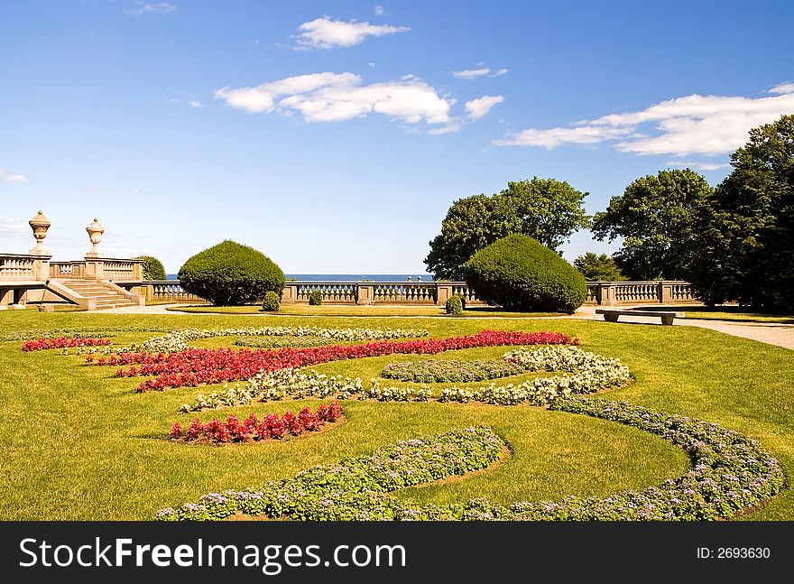
[[[314,308],[314,307],[312,307]],[[319,307],[332,308],[332,307]],[[0,313],[0,338],[46,330],[96,329],[124,344],[151,337],[131,329],[319,325],[429,329],[434,337],[481,329],[559,330],[582,347],[630,366],[636,383],[612,395],[672,413],[718,422],[749,434],[794,470],[794,352],[694,327],[632,326],[568,319],[356,319],[225,315]],[[205,343],[231,345],[234,338]],[[299,440],[211,447],[163,440],[175,420],[229,413],[282,413],[303,402],[257,403],[180,416],[181,403],[207,388],[134,394],[134,379],[112,367],[82,366],[56,351],[23,353],[18,340],[0,342],[0,517],[3,519],[149,519],[159,508],[195,501],[210,491],[261,485],[393,440],[462,425],[488,423],[512,447],[489,472],[450,484],[408,489],[398,496],[446,503],[486,496],[503,503],[605,495],[657,484],[688,468],[668,442],[619,424],[530,406],[459,403],[348,402],[337,428]],[[495,357],[502,348],[466,349],[440,358]],[[412,358],[426,358],[416,357]],[[404,356],[320,366],[328,373],[378,375]],[[518,379],[518,377],[516,378]],[[511,378],[512,380],[512,378]],[[317,401],[306,404],[317,405]],[[794,519],[794,496],[780,496],[743,518]]]

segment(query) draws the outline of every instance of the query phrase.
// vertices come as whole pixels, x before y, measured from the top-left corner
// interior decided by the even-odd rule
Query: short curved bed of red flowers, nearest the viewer
[[[321,404],[317,412],[309,406],[295,415],[285,412],[283,415],[268,413],[262,420],[255,413],[242,422],[237,416],[226,417],[226,422],[217,418],[202,424],[193,420],[186,431],[180,422],[173,422],[169,438],[172,440],[209,440],[210,442],[242,442],[245,440],[279,440],[285,435],[297,436],[304,431],[319,431],[326,422],[336,422],[342,415],[342,406],[334,400],[329,405]]]

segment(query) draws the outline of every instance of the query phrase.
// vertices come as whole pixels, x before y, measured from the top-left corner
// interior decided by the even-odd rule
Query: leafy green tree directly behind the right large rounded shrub
[[[508,182],[492,196],[457,199],[441,222],[441,233],[425,258],[437,279],[462,280],[463,264],[497,239],[522,233],[556,249],[580,227],[589,227],[583,209],[587,193],[554,179]]]

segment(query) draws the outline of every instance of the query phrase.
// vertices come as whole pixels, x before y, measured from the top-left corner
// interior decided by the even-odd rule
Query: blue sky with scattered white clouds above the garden
[[[287,273],[422,273],[450,203],[532,176],[605,209],[635,178],[716,184],[794,113],[794,3],[0,4],[0,252],[225,238]],[[614,246],[613,246],[614,248]],[[578,233],[568,259],[607,251]]]

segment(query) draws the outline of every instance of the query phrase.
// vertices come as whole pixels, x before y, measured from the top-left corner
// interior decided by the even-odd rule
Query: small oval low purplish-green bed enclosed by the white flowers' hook
[[[391,363],[383,367],[381,376],[386,379],[410,381],[423,384],[442,384],[485,381],[511,375],[521,375],[527,369],[518,363],[499,359],[477,359],[457,361],[455,359],[433,359],[418,363]]]

